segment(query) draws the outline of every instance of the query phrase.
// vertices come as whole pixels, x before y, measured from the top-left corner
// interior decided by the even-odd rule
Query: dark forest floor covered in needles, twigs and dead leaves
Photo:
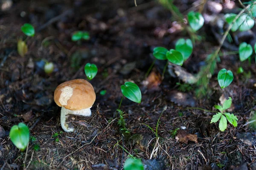
[[[82,2],[14,0],[10,9],[0,12],[0,126],[5,130],[0,137],[1,170],[23,166],[29,170],[118,170],[128,153],[143,158],[148,170],[252,168],[256,161],[256,133],[253,123],[247,122],[256,109],[255,62],[249,66],[247,61],[241,63],[237,54],[224,55],[209,81],[208,95],[196,98],[195,86],[186,86],[185,92],[180,93],[176,84],[182,83],[179,78],[171,77],[169,71],[163,80],[159,76],[165,62],[156,62],[145,78],[153,62],[154,47],[174,48],[179,38],[189,38],[171,20],[171,12],[149,0],[137,0],[137,7],[133,0]],[[197,8],[193,2],[180,0],[175,5],[186,12]],[[218,5],[223,10],[215,15],[225,14],[227,4]],[[205,13],[214,13],[209,3],[204,8]],[[20,31],[24,23],[35,26],[36,33],[26,40],[28,52],[20,57],[17,39],[26,38]],[[187,72],[199,72],[207,55],[219,45],[212,27],[205,23],[197,32],[202,40],[196,41],[192,55],[183,64]],[[77,30],[89,32],[90,40],[73,42],[71,36]],[[232,46],[238,49],[235,42]],[[221,52],[228,50],[226,46]],[[54,63],[50,75],[44,73],[45,60]],[[98,67],[96,77],[90,81],[96,92],[92,116],[73,117],[70,121],[76,130],[66,133],[60,125],[61,108],[53,100],[54,90],[64,81],[87,79],[86,63]],[[239,66],[246,74],[236,74]],[[234,73],[232,84],[225,89],[217,81],[222,68]],[[116,109],[122,98],[120,86],[126,81],[140,87],[142,102],[123,99],[120,109],[129,134],[122,137]],[[101,90],[106,94],[101,95]],[[188,108],[214,110],[213,106],[227,97],[232,98],[230,112],[238,117],[238,126],[228,123],[224,132],[218,130],[218,123],[210,124],[215,113]],[[19,122],[30,128],[27,154],[20,152],[9,138],[11,127]],[[157,134],[147,125],[157,128]],[[177,128],[196,134],[195,140],[187,144],[177,141],[172,134]]]

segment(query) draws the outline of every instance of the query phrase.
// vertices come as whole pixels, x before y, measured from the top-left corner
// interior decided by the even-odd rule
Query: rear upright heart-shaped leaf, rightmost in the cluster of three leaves
[[[175,44],[175,49],[183,55],[184,61],[186,61],[193,51],[193,44],[190,39],[180,38]]]

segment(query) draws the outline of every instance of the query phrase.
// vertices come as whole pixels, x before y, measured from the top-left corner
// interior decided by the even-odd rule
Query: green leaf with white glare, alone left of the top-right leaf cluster
[[[204,17],[199,12],[191,11],[188,13],[189,25],[194,31],[201,29],[204,25]]]

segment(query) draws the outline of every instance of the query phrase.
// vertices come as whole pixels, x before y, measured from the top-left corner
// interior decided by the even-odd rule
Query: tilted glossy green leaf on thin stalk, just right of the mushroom
[[[139,86],[132,82],[125,82],[125,85],[121,86],[122,94],[136,103],[141,102],[141,92]]]

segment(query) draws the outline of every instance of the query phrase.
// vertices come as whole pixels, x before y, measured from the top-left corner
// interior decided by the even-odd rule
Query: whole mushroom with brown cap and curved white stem
[[[54,101],[61,107],[61,127],[66,132],[73,132],[66,123],[66,116],[90,116],[90,108],[96,100],[93,86],[84,79],[66,81],[55,89]]]

